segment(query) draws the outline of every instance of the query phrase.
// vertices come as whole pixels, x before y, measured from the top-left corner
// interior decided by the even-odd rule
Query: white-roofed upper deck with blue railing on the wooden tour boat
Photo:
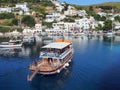
[[[48,57],[48,58],[53,58],[53,57],[59,57],[62,53],[65,51],[69,50],[72,47],[72,43],[68,42],[54,42],[50,43],[46,46],[42,47],[42,51],[40,53],[40,58]]]

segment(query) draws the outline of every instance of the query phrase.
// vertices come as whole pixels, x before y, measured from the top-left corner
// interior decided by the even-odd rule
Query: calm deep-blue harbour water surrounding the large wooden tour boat
[[[39,58],[39,45],[1,54],[0,90],[120,90],[119,37],[114,42],[72,40],[75,53],[70,66],[60,74],[36,75],[31,82],[27,81],[28,66]]]

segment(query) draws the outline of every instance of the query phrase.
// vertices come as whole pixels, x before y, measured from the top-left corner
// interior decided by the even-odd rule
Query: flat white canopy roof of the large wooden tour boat
[[[68,46],[70,43],[67,42],[54,42],[54,43],[50,43],[46,46],[43,46],[42,48],[54,48],[54,49],[63,49],[66,46]]]

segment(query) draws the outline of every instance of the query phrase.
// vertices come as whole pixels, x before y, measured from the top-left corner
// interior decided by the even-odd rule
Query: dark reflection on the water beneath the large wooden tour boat
[[[67,79],[71,75],[72,64],[73,62],[70,62],[70,66],[63,69],[59,74],[49,76],[39,74],[36,75],[31,82],[31,86],[39,90],[60,90],[64,88]]]

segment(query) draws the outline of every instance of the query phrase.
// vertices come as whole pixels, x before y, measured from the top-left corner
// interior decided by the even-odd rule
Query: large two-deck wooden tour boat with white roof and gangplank
[[[40,60],[29,66],[33,73],[28,77],[28,80],[32,80],[37,73],[43,75],[60,73],[63,68],[69,66],[74,53],[71,40],[59,39],[43,46],[42,49]]]

